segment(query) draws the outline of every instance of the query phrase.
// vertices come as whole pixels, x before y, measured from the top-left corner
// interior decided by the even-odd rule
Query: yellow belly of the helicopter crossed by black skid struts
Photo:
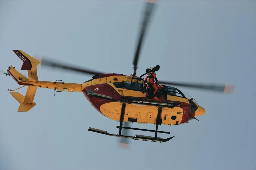
[[[100,106],[101,113],[109,119],[120,121],[121,117],[121,102],[111,102]],[[137,119],[138,123],[156,123],[158,114],[157,106],[126,104],[124,121]],[[162,124],[175,125],[182,120],[183,110],[180,107],[162,108]]]

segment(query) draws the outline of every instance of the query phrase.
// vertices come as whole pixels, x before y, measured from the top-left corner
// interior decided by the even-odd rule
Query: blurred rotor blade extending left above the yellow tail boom
[[[77,65],[64,64],[60,61],[53,61],[50,59],[46,59],[45,57],[43,57],[41,61],[41,67],[43,68],[44,66],[50,67],[51,69],[60,68],[60,69],[63,69],[63,71],[68,70],[68,71],[74,71],[74,72],[90,74],[90,75],[102,74],[102,72],[99,72],[99,71],[95,71],[87,68],[81,68]]]

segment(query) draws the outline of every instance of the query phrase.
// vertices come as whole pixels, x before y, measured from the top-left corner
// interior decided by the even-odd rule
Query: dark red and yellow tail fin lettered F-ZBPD
[[[23,61],[21,70],[32,70],[38,64],[40,64],[39,61],[31,57],[30,55],[26,54],[22,50],[13,50],[13,52],[15,52],[15,54],[21,59],[21,61]]]

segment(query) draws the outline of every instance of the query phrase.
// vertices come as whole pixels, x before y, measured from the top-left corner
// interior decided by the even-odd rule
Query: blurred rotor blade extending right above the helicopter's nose
[[[204,83],[192,84],[192,83],[177,83],[177,82],[168,82],[168,81],[158,81],[158,83],[203,89],[203,90],[211,90],[211,91],[223,92],[223,93],[233,93],[233,90],[234,90],[234,86],[226,86],[225,84],[224,85],[204,84]]]

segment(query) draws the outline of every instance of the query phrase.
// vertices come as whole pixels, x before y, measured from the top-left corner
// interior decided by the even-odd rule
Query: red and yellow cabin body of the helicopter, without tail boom
[[[126,101],[124,121],[137,123],[156,123],[159,107],[161,107],[162,124],[178,125],[200,116],[205,110],[194,101],[188,99],[179,89],[171,86],[164,87],[164,102],[177,105],[175,107],[150,106],[145,104],[129,103],[142,101],[145,93],[141,92],[143,80],[122,74],[100,74],[83,83],[82,92],[94,108],[109,119],[119,121],[122,112],[122,103]],[[96,93],[111,98],[94,97]]]

